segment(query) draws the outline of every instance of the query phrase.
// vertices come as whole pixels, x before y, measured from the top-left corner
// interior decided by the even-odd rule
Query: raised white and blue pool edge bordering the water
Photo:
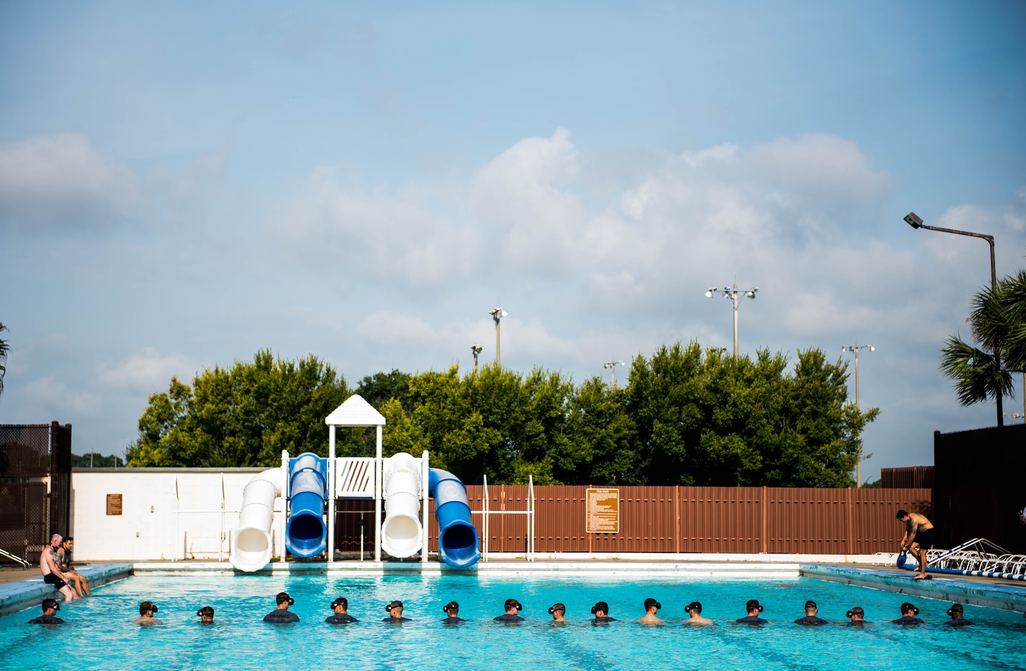
[[[713,555],[715,556],[715,555]],[[795,555],[815,557],[815,555]],[[790,558],[790,557],[788,557]],[[227,561],[146,561],[97,563],[82,566],[79,570],[89,579],[92,587],[121,580],[129,576],[197,576],[222,575],[244,578],[246,576],[329,576],[332,578],[419,575],[429,577],[475,576],[510,578],[532,577],[591,577],[698,579],[713,580],[789,580],[812,578],[816,580],[857,585],[885,590],[910,597],[958,601],[1002,610],[1026,611],[1026,587],[1012,581],[994,581],[980,578],[940,578],[913,581],[911,571],[893,565],[853,565],[818,561],[681,561],[626,559],[576,559],[560,558],[544,561],[503,558],[480,561],[465,569],[451,568],[437,561],[333,561],[333,562],[272,562],[262,570],[245,574],[236,570]],[[877,562],[873,562],[877,563]],[[57,597],[52,586],[46,585],[38,575],[0,585],[0,615],[37,605],[47,596]]]

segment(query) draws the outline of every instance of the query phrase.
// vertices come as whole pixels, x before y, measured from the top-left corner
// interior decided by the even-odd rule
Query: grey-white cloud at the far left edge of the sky
[[[116,220],[135,179],[79,133],[0,145],[0,225],[81,226]]]

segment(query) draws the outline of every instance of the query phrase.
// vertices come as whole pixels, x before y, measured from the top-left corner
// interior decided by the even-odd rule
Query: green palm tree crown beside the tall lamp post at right
[[[941,350],[941,370],[955,381],[962,405],[1014,398],[1012,372],[1026,370],[1026,271],[981,290],[972,306],[969,322],[979,347],[949,338]]]

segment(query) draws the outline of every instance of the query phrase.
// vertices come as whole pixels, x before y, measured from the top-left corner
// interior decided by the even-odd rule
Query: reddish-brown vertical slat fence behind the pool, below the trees
[[[904,530],[895,512],[904,508],[929,516],[933,497],[926,488],[619,487],[620,532],[587,534],[586,489],[584,485],[535,487],[536,552],[893,552]],[[472,511],[483,508],[482,496],[481,485],[467,486]],[[489,484],[488,508],[526,510],[527,496],[525,485]],[[347,505],[373,510],[372,502]],[[433,500],[429,511],[434,512]],[[483,540],[483,516],[471,517]],[[372,551],[373,513],[364,519],[364,548]],[[357,549],[358,515],[340,515],[336,528],[340,550]],[[525,552],[526,530],[526,515],[492,515],[488,550]],[[429,548],[437,551],[438,524],[433,514],[428,536]]]

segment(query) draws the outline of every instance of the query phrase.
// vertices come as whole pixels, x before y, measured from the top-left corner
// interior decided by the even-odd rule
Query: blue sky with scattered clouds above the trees
[[[203,366],[577,380],[869,342],[864,470],[986,426],[937,370],[1026,245],[1026,7],[0,4],[0,422],[110,453]],[[1022,407],[1020,391],[1012,406]],[[1019,420],[1021,421],[1021,420]]]

